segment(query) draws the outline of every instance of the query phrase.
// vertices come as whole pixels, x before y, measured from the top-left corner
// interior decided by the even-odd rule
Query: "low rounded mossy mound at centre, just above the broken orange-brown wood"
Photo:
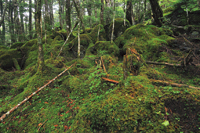
[[[95,44],[91,44],[86,52],[86,55],[105,55],[110,54],[112,56],[118,56],[119,48],[114,42],[110,41],[97,41]]]

